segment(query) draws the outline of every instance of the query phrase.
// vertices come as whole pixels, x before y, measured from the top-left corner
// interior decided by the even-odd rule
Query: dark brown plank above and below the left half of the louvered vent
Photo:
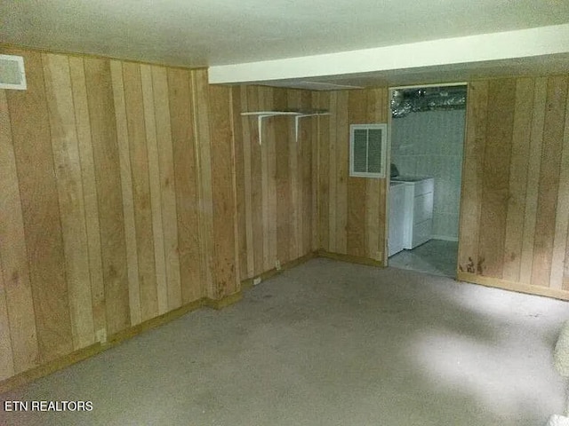
[[[367,122],[367,91],[349,91],[348,124]],[[343,162],[344,160],[342,160]],[[348,177],[347,182],[347,254],[350,256],[368,256],[366,250],[365,200],[366,180],[363,177]]]

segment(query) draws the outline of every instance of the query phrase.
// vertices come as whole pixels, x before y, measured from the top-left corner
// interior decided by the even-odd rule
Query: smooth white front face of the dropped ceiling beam
[[[569,24],[213,66],[209,67],[208,75],[212,84],[269,83],[274,80],[440,67],[566,52],[569,52]]]

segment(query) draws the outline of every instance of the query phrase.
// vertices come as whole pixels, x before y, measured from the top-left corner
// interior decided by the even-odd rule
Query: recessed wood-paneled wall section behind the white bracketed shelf
[[[241,279],[249,279],[305,256],[317,248],[317,125],[302,118],[263,120],[262,144],[256,116],[241,112],[310,109],[312,93],[263,86],[232,90],[236,138],[236,193]]]

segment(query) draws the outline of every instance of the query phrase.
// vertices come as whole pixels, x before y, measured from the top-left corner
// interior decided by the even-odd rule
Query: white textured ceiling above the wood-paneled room
[[[0,2],[2,43],[185,67],[293,59],[568,22],[568,0]],[[566,51],[569,53],[569,45]],[[533,65],[517,60],[508,66],[521,65],[529,72],[536,65],[543,68],[550,60],[557,70],[569,70],[566,55],[548,56]],[[494,68],[501,70],[503,65]],[[482,68],[491,69],[492,64]],[[397,76],[398,83],[413,83],[440,79],[442,75],[437,75],[448,70],[415,71],[420,75],[391,70],[344,78],[331,71],[320,83],[393,84]],[[457,78],[454,71],[452,78]],[[305,76],[280,79],[279,84],[317,80],[314,75],[308,80]]]

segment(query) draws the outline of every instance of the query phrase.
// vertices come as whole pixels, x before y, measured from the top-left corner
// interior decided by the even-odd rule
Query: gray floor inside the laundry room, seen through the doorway
[[[459,243],[430,240],[413,250],[403,250],[389,257],[389,266],[444,277],[456,277]]]

